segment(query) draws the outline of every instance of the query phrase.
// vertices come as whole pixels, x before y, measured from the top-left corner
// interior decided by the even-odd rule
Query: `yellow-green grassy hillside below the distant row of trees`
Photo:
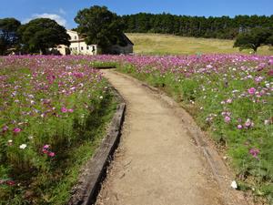
[[[239,52],[233,47],[233,40],[212,38],[182,37],[160,34],[126,34],[135,44],[136,54],[212,54],[212,53],[249,53]],[[258,48],[260,55],[273,55],[273,48]]]

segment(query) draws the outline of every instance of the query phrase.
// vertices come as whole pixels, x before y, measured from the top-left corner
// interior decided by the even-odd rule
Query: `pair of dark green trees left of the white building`
[[[21,25],[15,18],[0,19],[0,55],[46,54],[48,48],[70,45],[66,28],[49,18],[36,18]]]

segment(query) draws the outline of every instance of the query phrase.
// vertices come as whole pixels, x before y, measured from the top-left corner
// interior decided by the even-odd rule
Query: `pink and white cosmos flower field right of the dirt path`
[[[216,140],[240,190],[273,202],[273,56],[127,56],[119,70],[176,98]]]

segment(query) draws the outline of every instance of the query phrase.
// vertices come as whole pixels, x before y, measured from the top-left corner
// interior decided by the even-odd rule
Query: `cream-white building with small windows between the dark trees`
[[[70,36],[70,46],[65,45],[57,46],[57,50],[61,55],[96,55],[96,45],[86,45],[85,39],[77,34],[76,31],[67,30]]]

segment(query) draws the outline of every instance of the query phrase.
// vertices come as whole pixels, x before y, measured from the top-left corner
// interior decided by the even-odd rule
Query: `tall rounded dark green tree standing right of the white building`
[[[123,36],[125,25],[115,13],[106,6],[94,5],[78,11],[75,22],[77,31],[86,39],[86,44],[96,44],[103,53],[108,52],[109,46],[126,46]]]

